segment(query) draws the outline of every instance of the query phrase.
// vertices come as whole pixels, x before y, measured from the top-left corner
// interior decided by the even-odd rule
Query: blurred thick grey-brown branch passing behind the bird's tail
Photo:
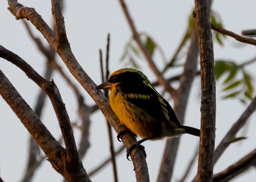
[[[184,123],[184,115],[187,107],[189,92],[196,75],[197,59],[198,39],[196,29],[194,28],[191,34],[191,43],[188,49],[184,70],[182,75],[180,75],[180,87],[177,90],[177,97],[174,98],[174,111],[181,124]],[[179,142],[180,138],[167,139],[157,182],[165,182],[171,180]]]

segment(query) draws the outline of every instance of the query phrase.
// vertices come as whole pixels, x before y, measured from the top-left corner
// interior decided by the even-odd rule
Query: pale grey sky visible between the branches
[[[52,26],[51,2],[45,0],[19,0],[19,3],[27,7],[33,7],[42,16],[49,26]],[[105,46],[107,34],[111,34],[110,43],[110,72],[125,67],[121,63],[120,57],[124,50],[124,44],[130,39],[131,31],[122,12],[121,6],[117,0],[109,1],[64,1],[64,18],[68,40],[71,49],[80,65],[92,80],[101,83],[99,66],[99,48],[103,49],[105,56]],[[145,31],[161,45],[165,56],[170,59],[186,31],[188,16],[191,14],[194,1],[146,1],[129,0],[127,3],[129,12],[139,31]],[[27,61],[39,74],[44,73],[45,58],[42,56],[36,45],[31,41],[21,20],[15,20],[15,17],[7,10],[7,1],[0,1],[0,44],[6,49],[16,53],[22,59]],[[212,9],[218,12],[222,18],[224,27],[230,31],[240,34],[242,30],[255,28],[256,22],[256,1],[245,0],[243,3],[238,0],[233,1],[213,1]],[[30,22],[29,22],[30,23]],[[42,40],[43,36],[29,24],[33,32]],[[48,43],[44,40],[44,44]],[[186,50],[184,50],[186,54]],[[252,57],[255,57],[255,47],[238,43],[233,38],[228,37],[224,42],[224,47],[214,43],[215,59],[228,59],[242,63]],[[68,69],[57,58],[59,64],[70,78],[76,83],[79,90],[86,98],[86,103],[93,105],[93,100],[84,91],[82,86],[72,77]],[[154,56],[157,67],[161,70],[164,63],[158,53]],[[182,59],[184,60],[184,59]],[[180,63],[182,63],[182,60]],[[30,107],[34,108],[36,97],[40,89],[38,86],[16,66],[4,59],[0,59],[0,69],[11,81],[20,95],[27,101]],[[156,77],[150,71],[146,61],[139,62],[141,71],[143,71],[150,80],[155,81]],[[246,67],[246,70],[255,76],[255,64]],[[171,69],[165,76],[169,77],[181,73],[181,69]],[[52,78],[57,84],[62,99],[71,121],[77,121],[77,104],[73,92],[63,81],[60,75],[54,72]],[[225,76],[224,76],[225,78]],[[254,77],[255,78],[255,77]],[[174,87],[178,85],[174,84]],[[232,124],[236,122],[239,116],[244,112],[247,105],[241,104],[237,99],[222,100],[221,82],[216,83],[217,87],[217,113],[216,113],[216,145],[220,143]],[[161,88],[159,91],[161,91]],[[200,79],[196,78],[190,93],[185,124],[200,128]],[[165,98],[169,99],[168,94]],[[46,99],[41,120],[55,138],[60,137],[60,129],[57,118],[52,109],[49,99]],[[172,100],[170,104],[173,106]],[[108,134],[105,119],[100,111],[91,116],[92,123],[90,129],[90,143],[85,158],[82,160],[84,168],[90,172],[94,167],[109,156]],[[238,136],[246,136],[247,140],[232,144],[221,156],[214,168],[214,173],[224,170],[232,163],[239,160],[244,155],[255,149],[255,114],[248,120],[245,129],[239,132]],[[79,144],[79,131],[74,129],[76,143]],[[123,144],[116,140],[114,135],[115,148]],[[29,133],[22,125],[20,120],[12,112],[5,101],[0,98],[0,176],[4,181],[20,181],[27,166]],[[147,141],[143,143],[147,152],[147,163],[151,181],[156,181],[159,165],[161,163],[164,151],[165,141]],[[195,147],[198,145],[199,138],[190,135],[181,137],[180,148],[176,160],[173,181],[176,182],[182,178],[187,164],[194,154]],[[118,155],[117,158],[118,178],[121,182],[136,181],[132,162],[127,161],[125,152]],[[188,180],[191,181],[196,175],[197,163],[189,174]],[[233,179],[238,181],[254,181],[256,170],[250,169],[246,173]],[[47,161],[37,170],[33,181],[62,181],[58,174]],[[113,181],[112,166],[101,170],[100,173],[91,178],[94,182]]]

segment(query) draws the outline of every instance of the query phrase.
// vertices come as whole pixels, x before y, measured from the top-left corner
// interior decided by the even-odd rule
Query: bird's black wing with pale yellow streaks
[[[141,83],[125,83],[118,85],[127,101],[144,109],[159,122],[180,126],[170,104],[154,89],[152,85]]]

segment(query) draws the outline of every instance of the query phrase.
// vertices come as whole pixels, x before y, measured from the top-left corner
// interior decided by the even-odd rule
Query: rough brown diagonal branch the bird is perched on
[[[96,84],[77,62],[71,48],[68,47],[65,49],[60,49],[60,47],[58,47],[57,49],[55,34],[33,8],[23,7],[15,0],[8,0],[8,4],[10,6],[9,10],[14,16],[16,16],[17,19],[26,18],[30,20],[31,23],[42,33],[47,42],[64,61],[71,74],[92,97],[115,131],[119,133],[119,131],[123,129],[123,126],[120,124],[120,121],[111,109],[108,99],[104,96],[102,91],[95,89]],[[132,134],[126,133],[122,136],[122,141],[125,147],[128,148],[130,145],[136,142],[136,139],[133,138]],[[148,167],[142,149],[137,148],[136,150],[133,150],[131,152],[131,159],[133,161],[137,181],[149,181]]]

